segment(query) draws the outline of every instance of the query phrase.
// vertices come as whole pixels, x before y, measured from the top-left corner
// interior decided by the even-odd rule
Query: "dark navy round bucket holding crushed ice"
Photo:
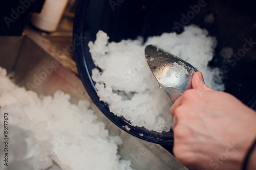
[[[207,18],[208,17],[208,18]],[[214,19],[214,20],[212,20]],[[123,117],[109,111],[108,104],[99,101],[91,70],[95,67],[88,42],[104,31],[109,41],[136,39],[137,36],[181,33],[191,23],[207,29],[218,45],[210,67],[219,67],[224,75],[225,91],[247,106],[256,109],[256,10],[254,1],[135,1],[80,0],[74,21],[73,42],[78,71],[93,102],[114,124],[138,138],[159,144],[173,144],[173,131],[157,133],[133,127]],[[226,48],[228,47],[228,48]],[[226,55],[223,49],[232,48]],[[223,54],[224,53],[224,54]],[[129,126],[130,131],[122,128]],[[139,133],[143,133],[140,136]]]

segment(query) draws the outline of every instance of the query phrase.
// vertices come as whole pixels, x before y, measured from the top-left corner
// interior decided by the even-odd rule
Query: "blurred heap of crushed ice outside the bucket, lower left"
[[[0,84],[1,128],[4,113],[9,116],[9,162],[4,165],[0,128],[0,169],[48,169],[53,164],[61,169],[132,169],[130,161],[117,155],[121,138],[109,135],[88,109],[89,102],[73,105],[61,91],[39,98],[13,84],[1,67]]]

